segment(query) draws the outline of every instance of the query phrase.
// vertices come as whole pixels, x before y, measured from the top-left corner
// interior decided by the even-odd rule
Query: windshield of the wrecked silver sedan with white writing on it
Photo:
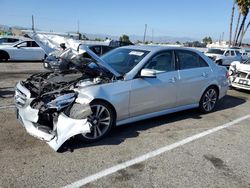
[[[105,55],[101,59],[109,64],[115,71],[124,75],[131,71],[149,51],[117,48]]]

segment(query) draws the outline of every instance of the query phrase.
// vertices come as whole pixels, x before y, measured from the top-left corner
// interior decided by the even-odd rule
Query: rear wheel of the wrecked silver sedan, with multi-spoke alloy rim
[[[201,112],[203,113],[212,112],[216,107],[218,96],[219,92],[216,87],[211,86],[207,88],[200,99],[199,108]]]

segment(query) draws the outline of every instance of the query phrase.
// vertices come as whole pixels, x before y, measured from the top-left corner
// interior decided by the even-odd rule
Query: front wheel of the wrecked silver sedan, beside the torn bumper
[[[115,123],[115,113],[105,102],[94,101],[90,103],[92,115],[88,117],[91,126],[91,133],[80,134],[78,139],[85,143],[96,142],[105,137]]]

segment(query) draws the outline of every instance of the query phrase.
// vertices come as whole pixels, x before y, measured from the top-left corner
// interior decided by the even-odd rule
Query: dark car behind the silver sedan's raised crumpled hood
[[[96,55],[101,56],[110,50],[114,49],[114,47],[110,47],[107,45],[99,45],[99,44],[79,44],[77,47],[77,52],[79,54],[85,53],[85,47],[88,47],[92,50]],[[74,67],[75,65],[71,62],[66,62],[67,60],[61,57],[63,51],[57,50],[52,52],[43,62],[43,66],[45,69],[48,70],[65,70],[69,69],[70,67]]]

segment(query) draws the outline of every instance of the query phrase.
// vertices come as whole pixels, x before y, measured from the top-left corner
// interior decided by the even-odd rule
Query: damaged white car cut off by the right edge
[[[250,90],[250,59],[242,63],[232,62],[229,67],[229,79],[232,87]]]

